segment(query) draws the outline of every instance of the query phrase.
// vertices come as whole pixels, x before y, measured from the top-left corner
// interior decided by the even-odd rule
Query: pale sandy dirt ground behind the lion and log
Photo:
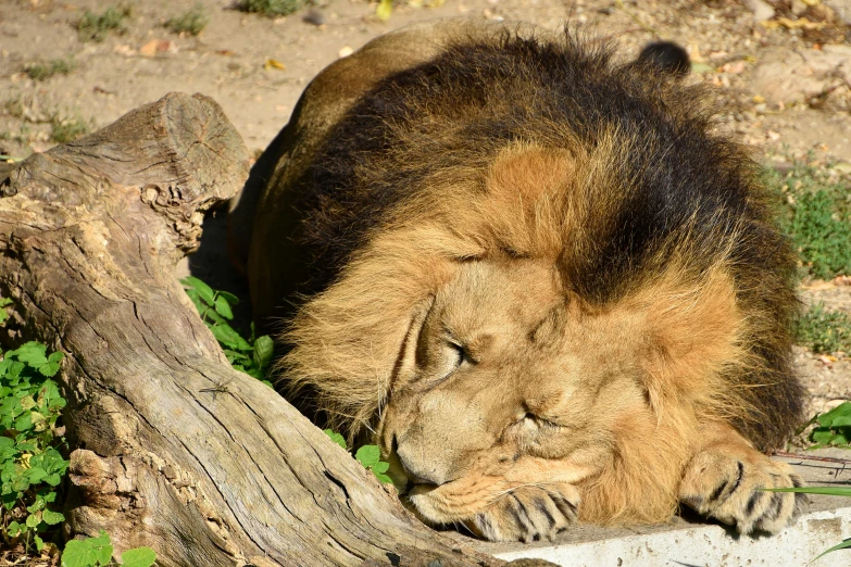
[[[375,3],[317,0],[287,17],[242,13],[231,0],[201,0],[210,22],[197,36],[164,23],[192,1],[136,0],[126,32],[84,42],[75,27],[98,0],[0,0],[0,154],[24,158],[50,148],[51,128],[80,119],[104,126],[168,91],[203,92],[224,108],[255,155],[286,124],[310,79],[338,56],[408,23],[464,15],[523,20],[548,28],[571,21],[620,43],[633,59],[655,39],[687,47],[688,80],[705,81],[721,104],[719,128],[758,161],[794,160],[851,173],[851,0],[428,0],[397,2],[387,22]],[[25,66],[71,59],[73,71],[37,81]],[[190,269],[239,292],[224,256],[223,219],[205,225]],[[851,243],[850,243],[851,245]],[[851,312],[851,287],[810,282],[819,298]],[[242,291],[245,297],[245,292]],[[797,352],[812,411],[851,399],[851,362]]]

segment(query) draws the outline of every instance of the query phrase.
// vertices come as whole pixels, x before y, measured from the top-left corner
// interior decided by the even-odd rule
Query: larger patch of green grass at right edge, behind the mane
[[[798,164],[785,176],[767,171],[779,228],[792,239],[804,276],[851,274],[851,196],[847,184]]]

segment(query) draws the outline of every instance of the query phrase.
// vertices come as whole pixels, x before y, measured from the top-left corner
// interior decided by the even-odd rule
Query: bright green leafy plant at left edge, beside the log
[[[39,551],[45,545],[39,534],[65,519],[52,509],[68,466],[57,430],[65,400],[50,379],[62,357],[27,342],[0,361],[0,527],[4,540],[20,539]]]

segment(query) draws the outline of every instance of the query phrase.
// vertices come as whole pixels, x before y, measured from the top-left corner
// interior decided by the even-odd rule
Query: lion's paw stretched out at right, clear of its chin
[[[760,489],[801,486],[789,465],[752,449],[739,454],[705,450],[686,467],[679,500],[699,514],[735,525],[740,533],[775,533],[803,509],[808,497]]]

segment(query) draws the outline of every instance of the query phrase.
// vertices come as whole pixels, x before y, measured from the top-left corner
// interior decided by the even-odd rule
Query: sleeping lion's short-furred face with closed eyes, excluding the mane
[[[418,514],[466,520],[606,466],[620,429],[653,420],[644,323],[572,300],[543,262],[463,263],[413,319],[378,433]]]

